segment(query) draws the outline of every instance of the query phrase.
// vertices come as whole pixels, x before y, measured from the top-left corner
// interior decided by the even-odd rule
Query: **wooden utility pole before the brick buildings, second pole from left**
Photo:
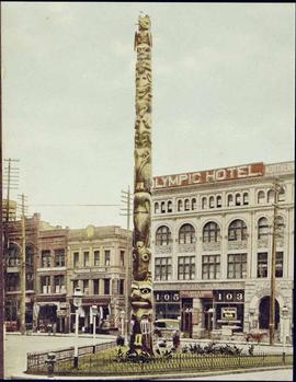
[[[21,334],[25,334],[25,290],[26,290],[26,275],[25,275],[25,196],[21,195],[22,200],[22,256],[21,256],[21,304],[20,304],[20,321]]]

